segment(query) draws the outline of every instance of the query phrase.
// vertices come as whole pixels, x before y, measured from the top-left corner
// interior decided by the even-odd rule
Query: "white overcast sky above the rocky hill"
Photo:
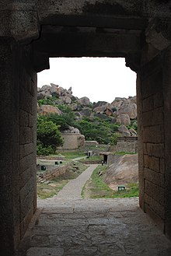
[[[115,97],[136,95],[136,73],[124,58],[51,58],[50,69],[38,73],[38,87],[55,83],[91,102],[111,103]]]

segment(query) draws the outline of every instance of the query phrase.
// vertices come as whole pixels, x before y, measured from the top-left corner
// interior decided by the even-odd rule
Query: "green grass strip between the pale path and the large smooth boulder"
[[[102,176],[99,176],[99,170]],[[138,197],[138,184],[127,184],[125,191],[113,191],[104,181],[107,167],[97,167],[82,189],[83,198],[131,198]]]

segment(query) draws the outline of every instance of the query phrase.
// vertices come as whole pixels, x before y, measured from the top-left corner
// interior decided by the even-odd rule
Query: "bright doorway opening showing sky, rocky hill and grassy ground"
[[[136,74],[125,67],[124,58],[51,58],[50,65],[49,71],[38,74],[38,196],[58,194],[59,187],[78,177],[85,170],[80,165],[86,163],[99,164],[94,179],[104,185],[103,191],[97,189],[97,195],[90,197],[112,197],[112,190],[119,190],[120,185],[126,188],[120,197],[137,196]],[[44,130],[49,132],[52,123],[59,132],[56,146]],[[68,160],[76,165],[70,167],[73,175],[68,174],[68,167],[64,170]],[[49,194],[54,176],[59,184],[57,189],[52,184]],[[94,186],[87,188],[93,190]],[[137,193],[132,194],[134,186]],[[85,193],[82,191],[83,196]]]

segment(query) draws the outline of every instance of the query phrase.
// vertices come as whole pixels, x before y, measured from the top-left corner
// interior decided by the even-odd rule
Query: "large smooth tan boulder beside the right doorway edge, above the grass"
[[[138,183],[138,155],[118,156],[107,170],[105,182],[116,190],[118,185]]]

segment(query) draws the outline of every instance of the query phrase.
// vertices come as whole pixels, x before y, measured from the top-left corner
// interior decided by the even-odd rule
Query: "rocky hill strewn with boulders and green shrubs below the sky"
[[[130,96],[128,99],[117,97],[112,103],[106,101],[91,103],[86,96],[80,99],[73,96],[72,87],[64,89],[51,83],[51,86],[46,85],[37,89],[37,100],[37,111],[40,115],[56,114],[58,117],[63,117],[70,113],[73,120],[70,120],[61,132],[74,133],[81,129],[81,132],[85,133],[90,129],[88,127],[90,124],[94,124],[95,127],[90,126],[92,130],[94,129],[94,132],[98,132],[99,124],[103,123],[105,128],[101,128],[100,132],[106,133],[106,136],[113,135],[116,132],[124,136],[136,135],[136,96]],[[66,117],[65,120],[67,120]],[[86,127],[86,125],[88,126]],[[98,136],[95,137],[97,138],[86,134],[86,139],[96,139],[98,141]]]

